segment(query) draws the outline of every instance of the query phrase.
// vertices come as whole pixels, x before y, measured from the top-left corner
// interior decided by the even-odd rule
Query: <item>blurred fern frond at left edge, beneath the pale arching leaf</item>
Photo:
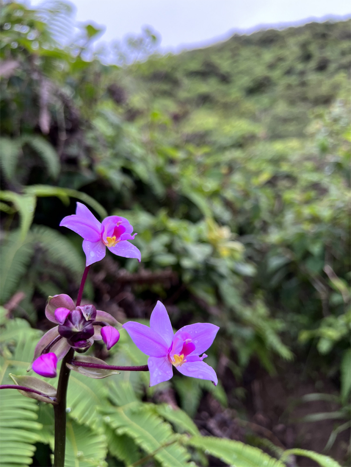
[[[30,242],[21,241],[21,232],[12,231],[2,243],[0,253],[0,295],[2,303],[6,303],[27,271],[33,248]]]

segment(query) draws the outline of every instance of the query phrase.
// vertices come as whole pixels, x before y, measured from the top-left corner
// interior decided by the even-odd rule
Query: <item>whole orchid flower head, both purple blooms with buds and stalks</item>
[[[136,234],[128,220],[120,216],[106,217],[100,223],[89,209],[77,203],[76,214],[65,217],[61,226],[68,227],[83,237],[83,250],[86,255],[86,271],[83,274],[81,292],[84,287],[89,266],[101,260],[106,247],[114,254],[126,258],[141,259],[140,251],[129,243]],[[57,324],[38,342],[34,359],[29,367],[36,373],[55,377],[58,361],[62,360],[72,348],[78,353],[86,352],[95,340],[103,340],[107,350],[118,342],[117,327],[122,326],[109,313],[97,310],[94,305],[77,305],[66,294],[49,297],[45,308],[46,317]],[[149,370],[150,386],[167,381],[172,377],[173,366],[186,375],[208,379],[217,385],[215,370],[204,362],[204,353],[213,343],[219,329],[210,323],[196,323],[182,327],[173,333],[167,311],[157,302],[150,317],[150,327],[128,321],[123,325],[139,350],[148,355],[147,366],[135,367],[139,371]],[[69,368],[91,377],[105,377],[118,372],[123,367],[105,365],[95,357],[79,357],[67,362]],[[73,366],[72,366],[73,365]],[[83,368],[82,368],[83,367]],[[84,369],[85,367],[85,369]],[[99,369],[92,373],[92,369]],[[124,367],[124,369],[133,367]]]

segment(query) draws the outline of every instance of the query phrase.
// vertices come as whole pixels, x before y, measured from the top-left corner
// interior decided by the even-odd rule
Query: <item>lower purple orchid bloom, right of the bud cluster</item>
[[[150,327],[132,321],[123,327],[138,349],[149,355],[150,386],[168,381],[173,375],[173,366],[186,376],[209,379],[217,385],[216,372],[203,361],[207,357],[203,352],[212,345],[218,326],[190,324],[173,335],[167,310],[158,301],[151,313]]]

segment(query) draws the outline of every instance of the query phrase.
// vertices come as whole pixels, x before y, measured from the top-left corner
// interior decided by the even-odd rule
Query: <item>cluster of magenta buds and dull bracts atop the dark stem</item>
[[[118,331],[115,326],[120,326],[120,324],[113,316],[105,311],[96,310],[94,305],[76,306],[72,298],[65,293],[49,297],[45,314],[50,321],[58,326],[50,329],[40,339],[34,351],[33,361],[27,371],[33,368],[38,374],[46,376],[41,372],[41,369],[50,361],[47,357],[43,359],[44,355],[54,354],[57,361],[60,361],[71,347],[77,352],[83,353],[88,350],[94,340],[104,340],[109,348],[118,341],[116,339]],[[110,327],[113,331],[108,330]],[[107,342],[101,335],[102,328],[105,328],[104,335],[108,336]],[[45,368],[44,372],[46,372]],[[56,374],[51,377],[55,376]]]

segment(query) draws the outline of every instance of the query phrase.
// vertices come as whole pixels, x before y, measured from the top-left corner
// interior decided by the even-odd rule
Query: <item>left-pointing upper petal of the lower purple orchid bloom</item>
[[[167,344],[157,332],[148,326],[128,321],[123,324],[123,327],[137,348],[146,353],[146,355],[150,355],[151,357],[164,357],[167,355]]]

